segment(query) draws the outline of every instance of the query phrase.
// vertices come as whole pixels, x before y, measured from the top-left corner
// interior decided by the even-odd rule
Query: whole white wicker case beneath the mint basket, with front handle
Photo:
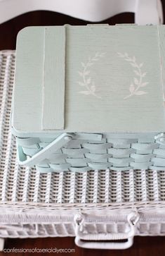
[[[87,248],[101,245],[79,238],[131,238],[126,248],[134,235],[165,236],[165,171],[41,174],[18,166],[9,124],[14,67],[15,51],[0,51],[0,237],[77,236]]]

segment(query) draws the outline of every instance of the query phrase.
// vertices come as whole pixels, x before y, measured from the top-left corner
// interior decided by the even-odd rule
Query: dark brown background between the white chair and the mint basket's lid
[[[89,0],[90,1],[90,0]],[[102,23],[109,23],[111,25],[117,23],[133,23],[133,13],[122,13],[114,16]],[[38,25],[86,25],[90,22],[71,18],[60,13],[53,13],[52,11],[33,11],[25,13],[17,18],[7,21],[0,25],[0,50],[1,49],[15,49],[15,42],[18,32],[27,26]]]

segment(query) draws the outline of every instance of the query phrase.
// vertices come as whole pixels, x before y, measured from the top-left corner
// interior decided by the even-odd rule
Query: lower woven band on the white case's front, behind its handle
[[[124,224],[97,224],[93,225],[93,232],[95,234],[109,231],[109,232],[126,232],[128,231],[128,225]],[[87,227],[87,231],[91,231],[91,226]],[[164,236],[165,223],[147,222],[141,223],[137,228],[136,235],[140,236]],[[74,224],[18,224],[18,225],[4,225],[1,226],[0,237],[1,238],[38,238],[38,237],[64,237],[75,236]]]

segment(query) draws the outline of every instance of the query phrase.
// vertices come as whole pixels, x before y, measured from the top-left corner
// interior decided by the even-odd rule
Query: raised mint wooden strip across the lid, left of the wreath
[[[44,28],[42,130],[63,130],[65,111],[65,26]]]

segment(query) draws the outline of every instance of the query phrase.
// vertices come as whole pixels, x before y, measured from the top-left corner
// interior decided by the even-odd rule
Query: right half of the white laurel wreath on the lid
[[[127,53],[121,54],[120,52],[117,52],[117,54],[119,57],[124,58],[125,61],[128,61],[131,64],[131,66],[135,68],[133,72],[136,73],[137,75],[137,78],[133,78],[133,83],[131,83],[129,87],[130,94],[124,97],[124,99],[128,99],[133,95],[137,95],[137,96],[146,95],[147,92],[143,90],[139,90],[140,88],[145,87],[149,83],[149,82],[143,82],[143,78],[145,77],[145,75],[147,75],[146,72],[143,73],[141,70],[141,68],[143,67],[143,63],[138,64],[136,62],[136,57],[133,56],[132,58],[130,58]]]

